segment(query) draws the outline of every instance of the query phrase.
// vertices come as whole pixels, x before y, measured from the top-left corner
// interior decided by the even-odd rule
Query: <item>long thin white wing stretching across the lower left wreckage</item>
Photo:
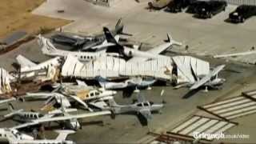
[[[27,126],[34,126],[34,125],[38,125],[38,124],[41,124],[44,122],[66,121],[66,120],[70,120],[73,118],[89,118],[89,117],[106,115],[106,114],[111,114],[111,112],[108,110],[105,110],[105,111],[92,112],[92,113],[86,113],[86,114],[66,115],[66,116],[58,116],[58,117],[52,117],[52,118],[38,118],[38,119],[33,120],[32,122],[26,122],[21,125],[14,126],[12,128],[13,129],[21,129],[21,128],[25,128]]]

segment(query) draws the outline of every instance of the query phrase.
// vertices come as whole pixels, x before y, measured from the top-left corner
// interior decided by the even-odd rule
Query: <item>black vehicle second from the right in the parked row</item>
[[[212,18],[215,14],[225,11],[226,6],[225,1],[200,2],[196,13],[199,18]]]

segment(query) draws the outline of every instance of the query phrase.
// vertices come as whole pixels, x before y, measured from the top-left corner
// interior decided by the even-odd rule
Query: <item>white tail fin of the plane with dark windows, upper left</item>
[[[42,47],[43,54],[51,55],[58,51],[50,39],[42,37],[41,34],[38,35],[38,45]]]

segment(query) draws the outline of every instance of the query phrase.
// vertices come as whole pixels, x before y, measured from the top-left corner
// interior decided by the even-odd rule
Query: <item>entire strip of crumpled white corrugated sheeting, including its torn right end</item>
[[[194,62],[196,65],[192,67],[197,74],[205,74],[206,71],[209,72],[209,63],[198,58],[179,56],[174,57],[174,59],[178,62],[179,73],[182,73],[183,77],[188,76],[188,78],[182,79],[182,82],[194,81],[191,71],[191,62]],[[78,58],[68,56],[62,66],[62,76],[77,78],[95,78],[97,76],[104,78],[148,76],[169,81],[171,80],[172,69],[173,58],[158,58],[146,62],[126,62],[121,58],[102,57],[91,62],[82,63],[78,61]],[[168,71],[168,73],[166,73],[166,71]]]

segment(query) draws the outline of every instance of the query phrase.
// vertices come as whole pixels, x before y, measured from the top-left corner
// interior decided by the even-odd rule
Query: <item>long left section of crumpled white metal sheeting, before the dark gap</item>
[[[170,80],[171,74],[166,74],[166,67],[172,70],[172,65],[171,58],[158,58],[146,62],[126,62],[121,58],[102,57],[95,61],[82,63],[78,61],[78,58],[68,56],[62,66],[62,76],[76,78],[147,76]]]

